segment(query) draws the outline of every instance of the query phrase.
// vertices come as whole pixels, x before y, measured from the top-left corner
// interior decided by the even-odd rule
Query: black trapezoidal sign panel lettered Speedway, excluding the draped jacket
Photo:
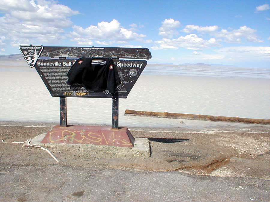
[[[52,96],[61,97],[93,97],[112,98],[113,95],[108,90],[103,92],[92,92],[80,84],[67,85],[67,72],[75,63],[74,59],[38,59],[35,68],[45,83]],[[145,60],[117,60],[114,64],[121,79],[121,84],[117,86],[119,98],[127,98],[132,87],[136,83],[147,62]]]

